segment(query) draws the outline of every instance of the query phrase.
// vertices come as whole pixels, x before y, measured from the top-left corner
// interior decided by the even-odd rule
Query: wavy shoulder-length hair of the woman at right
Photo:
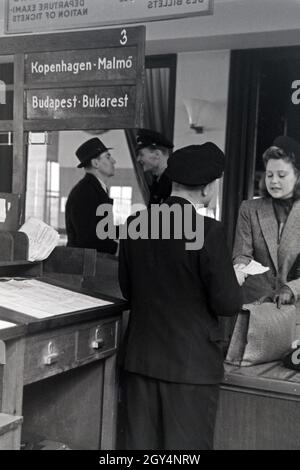
[[[300,171],[296,167],[296,157],[293,152],[284,152],[279,147],[269,147],[263,154],[263,162],[264,162],[264,167],[266,169],[267,163],[269,160],[284,160],[287,163],[291,163],[293,165],[294,171],[297,176],[297,181],[294,187],[294,193],[293,193],[293,198],[294,200],[300,199]],[[266,172],[262,175],[260,182],[259,182],[259,192],[262,196],[264,197],[271,197],[270,194],[268,193],[267,186],[266,186]]]

